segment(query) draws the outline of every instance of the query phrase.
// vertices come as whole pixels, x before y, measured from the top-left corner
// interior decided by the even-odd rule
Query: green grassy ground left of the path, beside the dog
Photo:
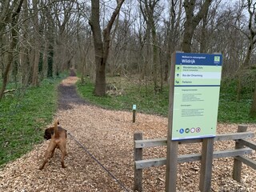
[[[0,166],[13,161],[42,141],[42,127],[57,110],[58,79],[46,79],[38,87],[16,90],[0,102]],[[11,86],[10,86],[11,87]]]

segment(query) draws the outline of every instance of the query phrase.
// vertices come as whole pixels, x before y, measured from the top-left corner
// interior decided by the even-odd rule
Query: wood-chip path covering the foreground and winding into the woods
[[[49,141],[34,146],[34,150],[22,158],[6,164],[0,170],[0,191],[133,191],[134,186],[134,133],[142,132],[143,138],[166,138],[167,118],[149,114],[104,110],[79,98],[74,83],[78,78],[70,76],[58,86],[58,112],[60,126],[68,130],[83,148],[68,135],[62,169],[60,152],[56,150],[44,170],[42,164]],[[52,125],[49,125],[52,126]],[[234,133],[236,124],[218,124],[218,134]],[[248,125],[254,131],[256,125]],[[253,139],[255,142],[255,138]],[[200,153],[201,144],[179,146],[179,154]],[[214,150],[234,149],[234,142],[215,142]],[[110,171],[122,188],[87,152]],[[143,150],[143,158],[166,157],[166,146]],[[250,158],[256,160],[255,152]],[[242,182],[232,179],[233,158],[218,158],[213,162],[212,191],[256,191],[256,171],[242,166]],[[178,164],[177,191],[199,191],[200,162]],[[143,191],[165,191],[166,166],[143,170]]]

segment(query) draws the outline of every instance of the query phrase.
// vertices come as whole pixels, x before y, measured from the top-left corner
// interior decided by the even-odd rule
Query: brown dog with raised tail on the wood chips
[[[45,131],[44,138],[46,138],[47,140],[50,139],[50,143],[46,150],[45,160],[42,163],[42,166],[40,166],[39,170],[42,170],[43,167],[46,165],[46,162],[48,162],[48,159],[54,156],[54,150],[56,148],[61,150],[62,168],[66,168],[66,166],[64,165],[64,158],[66,156],[66,130],[63,129],[61,126],[58,126],[58,124],[58,120],[55,120],[54,127],[50,127]]]

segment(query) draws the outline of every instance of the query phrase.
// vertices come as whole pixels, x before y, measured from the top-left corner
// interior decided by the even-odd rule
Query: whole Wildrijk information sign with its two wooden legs
[[[222,54],[172,54],[166,157],[166,192],[176,191],[178,142],[202,139],[199,189],[210,180],[222,76]]]

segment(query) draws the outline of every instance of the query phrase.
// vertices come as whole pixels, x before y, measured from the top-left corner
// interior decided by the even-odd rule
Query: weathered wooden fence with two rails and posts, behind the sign
[[[234,150],[214,151],[212,158],[234,158],[233,178],[241,182],[242,162],[256,170],[256,161],[245,157],[252,150],[256,150],[256,143],[246,139],[254,138],[254,132],[246,132],[247,126],[238,126],[238,132],[232,134],[218,134],[214,142],[234,140]],[[187,139],[178,144],[202,142],[203,139]],[[142,149],[146,147],[166,146],[167,138],[142,139],[142,133],[134,134],[134,190],[142,191],[142,169],[152,166],[166,165],[166,158],[142,159]],[[246,146],[246,147],[245,147]],[[207,153],[207,151],[202,151]],[[201,161],[202,154],[183,154],[178,156],[178,163]],[[202,174],[202,173],[201,173]],[[201,183],[201,182],[200,182]]]

